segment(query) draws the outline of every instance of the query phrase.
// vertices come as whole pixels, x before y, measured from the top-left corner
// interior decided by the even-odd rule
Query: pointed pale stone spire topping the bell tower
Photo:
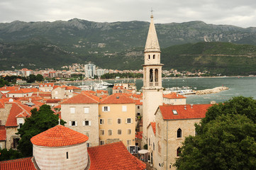
[[[157,39],[157,32],[155,30],[155,24],[153,21],[154,17],[152,13],[150,18],[151,18],[150,28],[148,30],[148,38],[147,38],[144,52],[160,52],[160,46]]]

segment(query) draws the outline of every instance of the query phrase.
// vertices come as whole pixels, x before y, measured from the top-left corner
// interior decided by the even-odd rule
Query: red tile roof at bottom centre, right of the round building
[[[98,169],[126,169],[142,170],[146,164],[128,152],[123,142],[89,147],[90,170]]]

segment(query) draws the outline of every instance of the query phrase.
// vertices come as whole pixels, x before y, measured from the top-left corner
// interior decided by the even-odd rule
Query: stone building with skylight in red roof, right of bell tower
[[[159,106],[155,113],[155,152],[149,150],[151,164],[156,169],[176,169],[185,137],[196,135],[195,123],[206,115],[211,104]]]

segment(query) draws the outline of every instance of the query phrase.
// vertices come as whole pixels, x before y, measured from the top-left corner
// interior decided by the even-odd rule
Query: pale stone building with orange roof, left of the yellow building
[[[99,145],[99,97],[83,91],[61,103],[66,126],[89,137],[88,147]]]

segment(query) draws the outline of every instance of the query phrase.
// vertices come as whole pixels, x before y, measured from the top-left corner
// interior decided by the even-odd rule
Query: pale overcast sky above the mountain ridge
[[[256,27],[255,0],[0,0],[0,23],[12,21],[96,22],[204,21],[243,28]]]

